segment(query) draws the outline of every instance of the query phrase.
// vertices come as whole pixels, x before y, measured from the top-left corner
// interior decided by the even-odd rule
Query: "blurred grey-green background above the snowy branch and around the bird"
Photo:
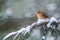
[[[60,0],[0,0],[0,40],[8,33],[36,22],[38,9],[51,17],[55,12],[60,13]]]

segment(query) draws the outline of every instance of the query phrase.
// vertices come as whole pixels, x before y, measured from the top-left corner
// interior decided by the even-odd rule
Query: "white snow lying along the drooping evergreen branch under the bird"
[[[47,18],[47,19],[38,19],[37,22],[32,23],[31,25],[27,26],[26,28],[21,28],[21,29],[18,30],[18,31],[9,33],[8,35],[6,35],[6,36],[3,38],[3,40],[6,40],[6,39],[8,39],[9,37],[11,37],[11,36],[13,36],[13,35],[15,35],[15,36],[13,37],[13,40],[16,40],[16,38],[17,38],[18,36],[20,36],[20,34],[22,34],[23,36],[25,36],[27,33],[30,34],[32,28],[34,28],[34,27],[36,27],[36,26],[38,26],[38,25],[41,25],[41,24],[43,24],[43,23],[48,23],[48,24],[47,24],[47,27],[49,27],[52,22],[57,22],[57,23],[58,23],[58,22],[60,22],[60,20],[57,20],[57,19],[54,18],[54,17],[52,17],[51,19],[49,19],[49,18]]]

